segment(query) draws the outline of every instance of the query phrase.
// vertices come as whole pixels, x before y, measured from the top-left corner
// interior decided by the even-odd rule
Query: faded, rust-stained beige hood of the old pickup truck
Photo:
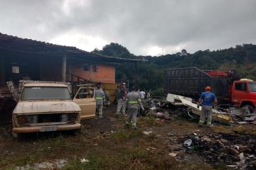
[[[74,101],[19,101],[13,113],[77,112],[80,107]]]

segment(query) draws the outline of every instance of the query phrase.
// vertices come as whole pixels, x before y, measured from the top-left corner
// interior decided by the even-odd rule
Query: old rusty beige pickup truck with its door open
[[[80,120],[95,116],[95,90],[81,87],[71,99],[61,82],[25,82],[13,110],[13,137],[20,133],[78,130]]]

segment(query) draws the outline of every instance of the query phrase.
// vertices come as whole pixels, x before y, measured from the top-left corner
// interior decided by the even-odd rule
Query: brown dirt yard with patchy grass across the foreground
[[[188,119],[161,121],[145,116],[137,120],[139,129],[132,130],[124,128],[125,118],[114,118],[115,105],[105,108],[104,113],[103,119],[82,121],[81,132],[76,135],[32,133],[21,140],[11,137],[11,118],[1,113],[0,169],[240,169],[227,166],[239,160],[224,157],[217,145],[205,143],[209,150],[216,149],[214,155],[207,155],[200,150],[191,152],[183,142],[191,135],[207,135],[209,139],[224,138],[222,143],[248,144],[250,154],[256,147],[255,125],[218,124],[209,128],[198,127]],[[54,163],[59,160],[61,165]],[[42,166],[45,162],[49,166]]]

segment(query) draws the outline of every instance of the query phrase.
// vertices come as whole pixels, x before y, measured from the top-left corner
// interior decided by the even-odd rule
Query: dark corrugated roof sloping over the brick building
[[[104,62],[137,62],[146,61],[141,59],[124,59],[120,57],[110,57],[107,55],[86,52],[76,47],[56,45],[53,43],[40,42],[37,40],[19,38],[12,35],[0,33],[0,50],[10,50],[14,52],[25,52],[38,55],[57,55],[67,54],[69,57],[78,59],[101,59]]]

